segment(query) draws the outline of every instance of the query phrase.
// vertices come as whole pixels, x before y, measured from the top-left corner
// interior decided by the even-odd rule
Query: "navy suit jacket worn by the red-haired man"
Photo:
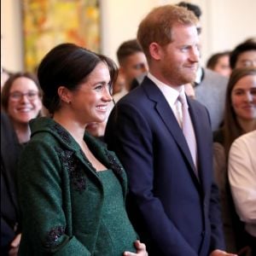
[[[172,108],[148,77],[108,119],[105,139],[125,166],[128,212],[149,255],[203,256],[224,249],[209,116],[199,102],[188,103],[199,178]]]

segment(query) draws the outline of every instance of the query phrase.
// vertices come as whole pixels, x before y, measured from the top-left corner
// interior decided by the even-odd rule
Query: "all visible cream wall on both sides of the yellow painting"
[[[153,7],[180,0],[101,0],[102,53],[116,61],[116,50],[135,38],[137,26]],[[191,0],[202,9],[202,63],[217,51],[233,49],[256,36],[255,0]],[[23,69],[20,0],[1,0],[2,66]]]

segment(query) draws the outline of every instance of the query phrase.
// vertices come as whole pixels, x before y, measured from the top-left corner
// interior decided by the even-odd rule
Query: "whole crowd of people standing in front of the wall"
[[[201,9],[152,9],[118,65],[58,44],[1,75],[1,255],[256,255],[256,41],[201,63]]]

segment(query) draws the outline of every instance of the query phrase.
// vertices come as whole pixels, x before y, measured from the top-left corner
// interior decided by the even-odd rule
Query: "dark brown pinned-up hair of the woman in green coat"
[[[117,67],[107,56],[76,44],[59,44],[51,49],[38,66],[38,80],[44,92],[43,104],[49,113],[54,113],[61,106],[58,88],[65,86],[68,90],[76,90],[101,61],[108,66],[110,86],[113,86]]]

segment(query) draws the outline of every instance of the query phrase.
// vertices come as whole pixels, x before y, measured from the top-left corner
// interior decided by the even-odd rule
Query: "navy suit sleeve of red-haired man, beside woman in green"
[[[162,256],[197,255],[154,195],[154,134],[148,121],[133,106],[123,104],[121,107],[114,108],[111,113],[105,139],[125,166],[130,193],[148,233],[162,250]]]

